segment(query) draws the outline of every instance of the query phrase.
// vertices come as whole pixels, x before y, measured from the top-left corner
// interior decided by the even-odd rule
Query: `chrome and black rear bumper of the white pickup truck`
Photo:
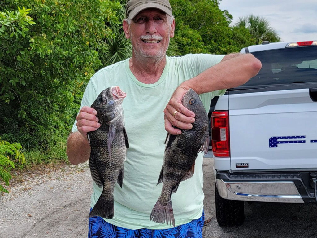
[[[256,202],[304,203],[304,193],[305,197],[310,197],[309,200],[311,201],[309,202],[316,201],[304,188],[304,183],[296,174],[293,174],[293,176],[289,176],[289,174],[286,176],[285,174],[282,174],[282,176],[278,176],[277,174],[270,174],[271,176],[267,174],[230,175],[226,172],[217,173],[214,169],[214,175],[219,195],[225,199]],[[269,180],[270,177],[276,179]],[[300,189],[298,189],[298,187]]]

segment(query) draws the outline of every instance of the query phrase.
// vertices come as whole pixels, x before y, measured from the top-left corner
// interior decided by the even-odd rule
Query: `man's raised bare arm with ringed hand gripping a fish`
[[[165,130],[172,135],[179,135],[181,131],[177,128],[192,128],[195,114],[182,105],[182,98],[188,89],[202,94],[234,88],[256,76],[261,67],[261,62],[252,54],[230,54],[224,56],[220,63],[185,81],[178,86],[164,109]],[[173,116],[176,110],[178,112]]]

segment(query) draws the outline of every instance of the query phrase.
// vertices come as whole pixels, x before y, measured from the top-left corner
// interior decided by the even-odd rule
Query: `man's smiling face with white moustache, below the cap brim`
[[[123,29],[126,38],[131,38],[135,56],[162,58],[174,36],[175,22],[165,12],[150,8],[139,12],[130,26],[125,22]]]

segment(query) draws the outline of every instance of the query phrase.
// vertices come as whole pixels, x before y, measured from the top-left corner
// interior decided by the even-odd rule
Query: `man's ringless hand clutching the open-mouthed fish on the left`
[[[87,138],[87,132],[95,131],[100,127],[99,119],[96,117],[97,112],[91,107],[84,106],[76,116],[76,126],[78,131]]]

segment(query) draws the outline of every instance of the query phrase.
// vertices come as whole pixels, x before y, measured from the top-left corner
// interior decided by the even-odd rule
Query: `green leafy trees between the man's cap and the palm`
[[[229,26],[232,16],[217,0],[171,0],[180,54],[237,52],[253,42],[250,34]]]

